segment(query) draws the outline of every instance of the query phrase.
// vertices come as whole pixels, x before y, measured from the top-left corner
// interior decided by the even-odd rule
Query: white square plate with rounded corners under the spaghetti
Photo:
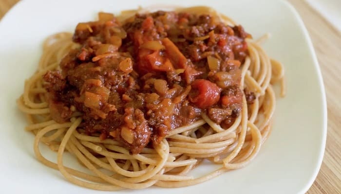
[[[282,0],[172,0],[163,4],[208,5],[241,23],[247,32],[271,39],[266,52],[284,64],[287,96],[278,98],[273,131],[259,155],[243,169],[227,172],[202,184],[177,189],[148,188],[123,191],[139,194],[306,192],[321,166],[326,140],[326,101],[322,76],[309,35],[294,8]],[[158,0],[121,3],[112,0],[31,0],[19,2],[0,23],[0,193],[95,193],[67,182],[35,159],[32,134],[23,130],[24,116],[15,100],[23,83],[37,68],[44,38],[72,32],[80,21],[93,20],[98,11],[160,4]],[[44,151],[44,150],[43,150]],[[45,150],[47,151],[47,150]],[[47,151],[49,159],[55,153]],[[71,165],[77,165],[71,162]],[[199,167],[196,174],[211,170]],[[118,192],[119,193],[119,192]]]

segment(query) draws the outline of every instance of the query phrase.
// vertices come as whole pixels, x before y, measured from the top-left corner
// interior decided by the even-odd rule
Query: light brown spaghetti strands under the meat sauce
[[[231,19],[220,16],[207,7],[180,11],[209,13],[229,25],[235,25]],[[135,13],[136,11],[124,12],[117,18],[129,20]],[[93,29],[90,28],[89,31],[92,33]],[[246,38],[248,55],[240,67],[240,88],[248,88],[256,98],[252,104],[247,104],[246,95],[243,95],[243,108],[228,128],[223,128],[206,113],[202,113],[200,120],[174,128],[159,143],[131,154],[131,150],[121,141],[87,135],[81,127],[83,113],[76,111],[75,107],[70,107],[72,115],[69,121],[57,123],[52,119],[43,75],[48,71],[60,70],[62,58],[79,46],[72,42],[70,33],[49,36],[43,44],[38,70],[26,80],[24,92],[17,101],[29,123],[26,130],[36,136],[34,151],[37,159],[44,165],[59,170],[67,180],[76,185],[105,191],[143,189],[152,185],[184,187],[246,166],[256,157],[271,131],[276,100],[271,84],[280,82],[281,96],[285,95],[282,65],[270,59],[259,46],[266,38],[266,35],[256,41]],[[93,58],[94,60],[97,59]],[[40,142],[57,151],[57,163],[42,156]],[[66,167],[63,163],[63,154],[66,151],[73,154],[92,173]],[[189,176],[190,171],[204,159],[221,164],[221,168],[202,177]]]

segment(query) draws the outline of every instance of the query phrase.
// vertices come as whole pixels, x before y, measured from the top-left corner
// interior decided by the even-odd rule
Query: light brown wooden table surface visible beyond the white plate
[[[0,0],[0,18],[18,0]],[[341,194],[341,32],[302,0],[289,0],[303,18],[317,53],[328,105],[323,163],[307,194]]]

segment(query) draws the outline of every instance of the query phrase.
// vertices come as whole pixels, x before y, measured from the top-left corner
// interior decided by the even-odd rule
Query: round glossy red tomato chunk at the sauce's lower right
[[[216,84],[205,79],[197,79],[191,84],[189,101],[199,108],[207,108],[219,101],[220,92],[221,88]]]

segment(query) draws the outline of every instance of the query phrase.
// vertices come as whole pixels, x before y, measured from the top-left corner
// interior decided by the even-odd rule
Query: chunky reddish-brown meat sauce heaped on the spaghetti
[[[80,47],[61,71],[44,75],[51,116],[63,123],[81,112],[86,134],[120,141],[133,154],[203,113],[228,128],[242,109],[239,67],[249,36],[208,15],[158,11],[121,24],[99,13],[77,25]]]

